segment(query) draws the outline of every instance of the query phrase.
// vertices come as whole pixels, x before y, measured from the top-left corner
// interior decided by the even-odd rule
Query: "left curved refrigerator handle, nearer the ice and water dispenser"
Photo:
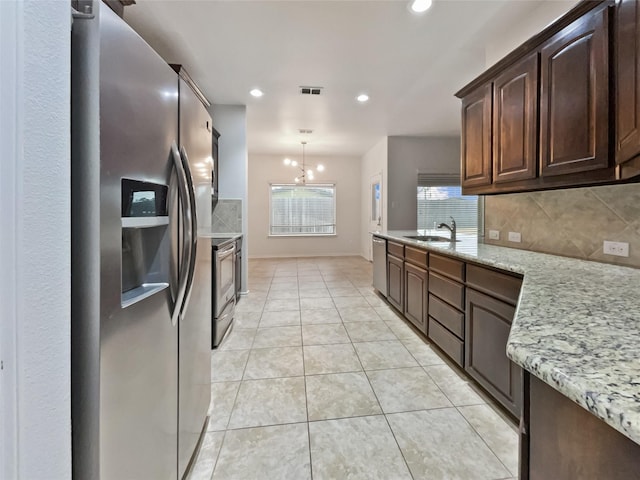
[[[185,298],[187,290],[187,281],[189,275],[189,269],[186,266],[189,264],[191,257],[191,226],[187,226],[187,219],[190,220],[190,207],[189,207],[189,192],[187,190],[187,180],[182,163],[182,158],[178,152],[178,146],[176,142],[171,143],[171,158],[173,159],[173,166],[176,169],[176,175],[178,177],[178,198],[181,206],[182,215],[182,230],[186,232],[188,240],[185,240],[180,255],[180,267],[178,271],[178,290],[176,292],[176,298],[173,305],[173,311],[171,312],[171,325],[175,326],[178,323],[178,317],[182,311],[182,304]],[[190,222],[191,223],[191,222]]]

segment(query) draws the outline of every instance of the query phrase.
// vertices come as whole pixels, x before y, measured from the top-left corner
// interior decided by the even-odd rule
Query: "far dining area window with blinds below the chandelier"
[[[272,184],[269,234],[335,235],[335,185]]]

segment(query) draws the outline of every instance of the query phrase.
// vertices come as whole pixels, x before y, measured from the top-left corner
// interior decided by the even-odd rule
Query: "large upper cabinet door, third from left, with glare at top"
[[[608,9],[590,12],[542,48],[542,176],[609,167]]]

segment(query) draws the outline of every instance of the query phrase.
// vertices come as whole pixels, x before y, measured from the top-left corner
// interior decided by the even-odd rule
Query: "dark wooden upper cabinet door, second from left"
[[[493,82],[493,181],[536,178],[538,154],[538,53]]]

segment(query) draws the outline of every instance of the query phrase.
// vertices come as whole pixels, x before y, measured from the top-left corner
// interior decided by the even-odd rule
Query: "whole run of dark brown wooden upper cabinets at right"
[[[637,1],[583,0],[457,92],[463,193],[640,180],[639,38]]]

